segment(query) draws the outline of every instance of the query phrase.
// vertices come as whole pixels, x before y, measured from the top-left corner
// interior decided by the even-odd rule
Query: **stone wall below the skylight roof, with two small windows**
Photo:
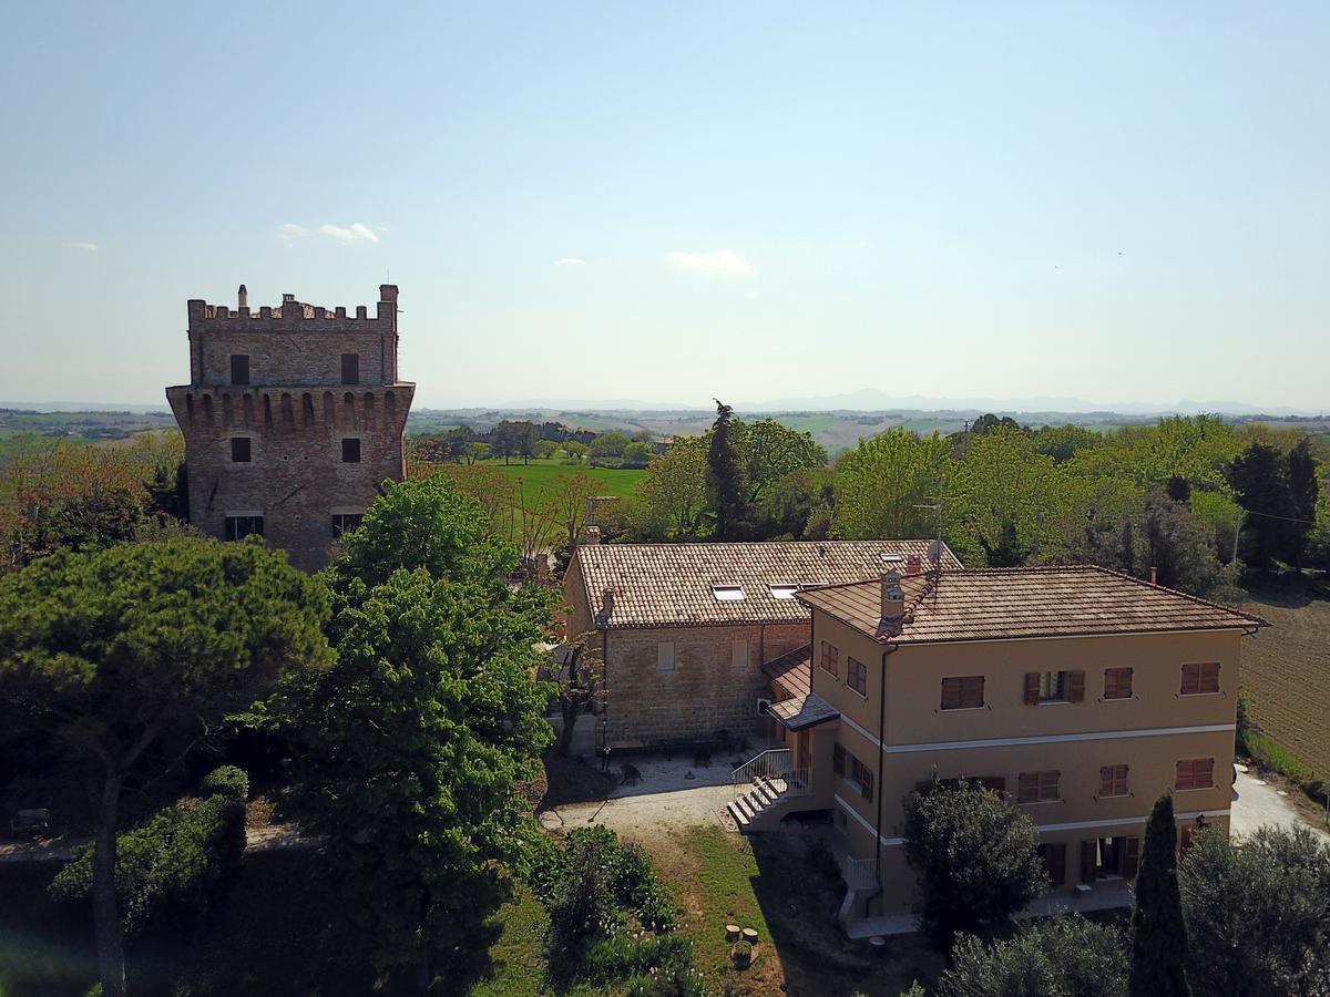
[[[657,667],[661,642],[674,643],[676,670]],[[746,667],[732,663],[746,641]],[[610,630],[605,655],[606,735],[612,746],[706,739],[718,730],[754,735],[758,698],[771,698],[761,661],[807,643],[809,625],[696,626]]]

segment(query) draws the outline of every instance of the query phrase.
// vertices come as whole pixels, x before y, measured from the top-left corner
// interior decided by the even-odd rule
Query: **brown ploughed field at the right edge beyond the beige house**
[[[1273,623],[1242,647],[1252,719],[1314,775],[1330,776],[1330,600],[1302,582],[1269,584],[1244,609]]]

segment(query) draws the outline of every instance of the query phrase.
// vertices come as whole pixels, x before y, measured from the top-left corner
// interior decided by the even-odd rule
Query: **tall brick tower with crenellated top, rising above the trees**
[[[406,473],[415,384],[398,380],[398,288],[366,306],[189,302],[189,384],[166,388],[185,435],[189,518],[219,540],[250,533],[318,570],[384,479]]]

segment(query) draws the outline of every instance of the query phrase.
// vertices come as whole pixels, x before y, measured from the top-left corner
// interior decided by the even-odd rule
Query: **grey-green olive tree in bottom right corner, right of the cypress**
[[[1330,845],[1305,827],[1205,831],[1178,867],[1197,990],[1330,993]]]

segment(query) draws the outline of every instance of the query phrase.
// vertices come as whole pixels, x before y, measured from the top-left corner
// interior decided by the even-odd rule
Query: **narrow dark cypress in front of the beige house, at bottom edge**
[[[1186,925],[1177,887],[1177,824],[1173,798],[1154,802],[1145,827],[1145,848],[1136,873],[1132,911],[1130,997],[1188,997],[1182,966],[1186,961]]]

